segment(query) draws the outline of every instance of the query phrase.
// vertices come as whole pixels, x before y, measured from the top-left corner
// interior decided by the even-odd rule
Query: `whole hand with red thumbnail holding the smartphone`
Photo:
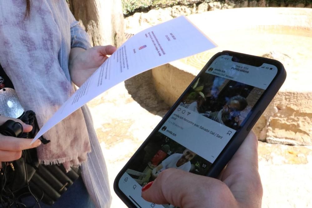
[[[142,188],[142,197],[155,204],[181,208],[261,207],[257,147],[256,135],[251,132],[222,171],[220,180],[167,169]]]

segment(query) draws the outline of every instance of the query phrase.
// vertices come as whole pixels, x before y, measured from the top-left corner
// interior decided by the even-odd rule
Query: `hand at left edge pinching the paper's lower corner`
[[[7,120],[13,120],[23,125],[24,132],[30,132],[32,130],[31,125],[27,125],[19,119],[12,119],[0,116],[0,125]],[[30,144],[32,139],[9,137],[0,134],[0,168],[2,168],[1,162],[9,162],[18,160],[22,157],[22,150],[35,148],[41,144],[38,139],[36,142]]]

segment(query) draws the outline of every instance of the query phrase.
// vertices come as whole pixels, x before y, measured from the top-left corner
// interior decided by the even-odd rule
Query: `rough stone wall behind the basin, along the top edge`
[[[306,7],[312,8],[312,0],[225,0],[225,1],[209,1],[209,0],[145,0],[143,7],[139,1],[126,1],[125,4],[132,2],[132,9],[129,12],[124,10],[124,21],[126,33],[135,34],[138,31],[144,30],[161,22],[168,21],[180,15],[191,15],[207,11],[240,8],[240,7]],[[143,0],[142,0],[143,2]],[[166,3],[159,3],[166,2]],[[176,2],[176,3],[174,3]],[[291,3],[297,2],[297,3]],[[158,4],[159,3],[159,4]],[[141,6],[139,6],[141,5]],[[128,8],[128,7],[127,7]],[[125,8],[124,8],[125,9]]]

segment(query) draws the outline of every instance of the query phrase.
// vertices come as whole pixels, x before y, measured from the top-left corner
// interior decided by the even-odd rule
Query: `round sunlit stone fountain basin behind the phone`
[[[237,8],[188,18],[218,47],[152,69],[161,98],[172,105],[219,51],[273,58],[287,78],[253,130],[261,141],[312,145],[312,9]]]

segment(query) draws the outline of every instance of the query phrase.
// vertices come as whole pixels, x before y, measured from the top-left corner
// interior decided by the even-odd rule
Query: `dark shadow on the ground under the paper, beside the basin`
[[[131,97],[150,113],[163,117],[170,109],[155,90],[151,70],[126,80],[124,85]]]

